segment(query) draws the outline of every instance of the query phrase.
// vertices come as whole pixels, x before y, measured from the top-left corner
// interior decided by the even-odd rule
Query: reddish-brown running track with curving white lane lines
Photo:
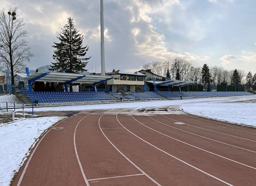
[[[256,129],[182,112],[81,112],[41,137],[13,185],[256,185]]]

